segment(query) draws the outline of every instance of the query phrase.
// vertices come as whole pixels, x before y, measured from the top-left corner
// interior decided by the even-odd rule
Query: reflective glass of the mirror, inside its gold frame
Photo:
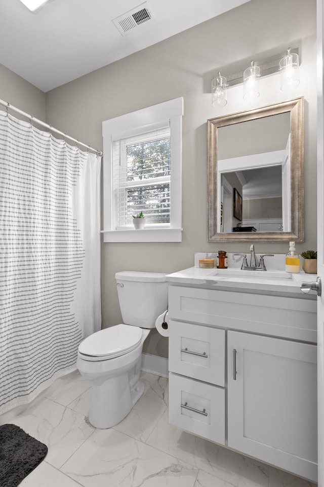
[[[290,113],[220,127],[217,135],[218,232],[289,232]]]

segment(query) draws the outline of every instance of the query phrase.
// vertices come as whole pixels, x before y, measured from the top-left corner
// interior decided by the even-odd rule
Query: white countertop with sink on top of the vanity
[[[261,275],[260,275],[261,274]],[[295,294],[301,298],[316,299],[316,293],[304,294],[300,287],[302,282],[315,282],[316,274],[290,274],[282,270],[250,271],[240,269],[203,269],[189,267],[172,274],[166,279],[171,284],[204,286],[208,288],[231,288],[235,291],[258,292],[262,294],[279,293]]]

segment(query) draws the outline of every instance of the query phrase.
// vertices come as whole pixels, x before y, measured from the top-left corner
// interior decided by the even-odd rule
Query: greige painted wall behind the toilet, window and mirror
[[[103,327],[121,322],[114,274],[120,270],[173,272],[193,265],[194,252],[215,252],[207,242],[207,119],[305,96],[305,243],[316,248],[316,11],[315,0],[251,0],[177,36],[146,48],[46,94],[48,123],[92,147],[102,148],[104,120],[169,99],[184,97],[182,243],[102,245]],[[221,42],[220,42],[221,40]],[[301,83],[292,93],[279,76],[261,79],[261,95],[242,99],[242,86],[228,90],[228,103],[211,106],[211,80],[240,60],[249,65],[289,47],[301,53]],[[234,71],[235,72],[235,71]],[[222,243],[247,252],[246,243]],[[258,243],[256,251],[286,253],[287,243]],[[167,356],[168,340],[153,331],[144,351]]]

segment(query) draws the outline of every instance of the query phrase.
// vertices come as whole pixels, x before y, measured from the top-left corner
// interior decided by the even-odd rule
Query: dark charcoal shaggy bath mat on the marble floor
[[[16,487],[47,454],[47,446],[19,426],[0,426],[0,487]]]

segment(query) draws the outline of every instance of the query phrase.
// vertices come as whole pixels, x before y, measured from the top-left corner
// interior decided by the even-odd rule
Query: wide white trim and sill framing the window
[[[104,242],[181,242],[181,153],[183,98],[121,115],[102,123]],[[115,230],[112,227],[112,141],[145,133],[170,123],[171,131],[171,220],[159,228]]]

